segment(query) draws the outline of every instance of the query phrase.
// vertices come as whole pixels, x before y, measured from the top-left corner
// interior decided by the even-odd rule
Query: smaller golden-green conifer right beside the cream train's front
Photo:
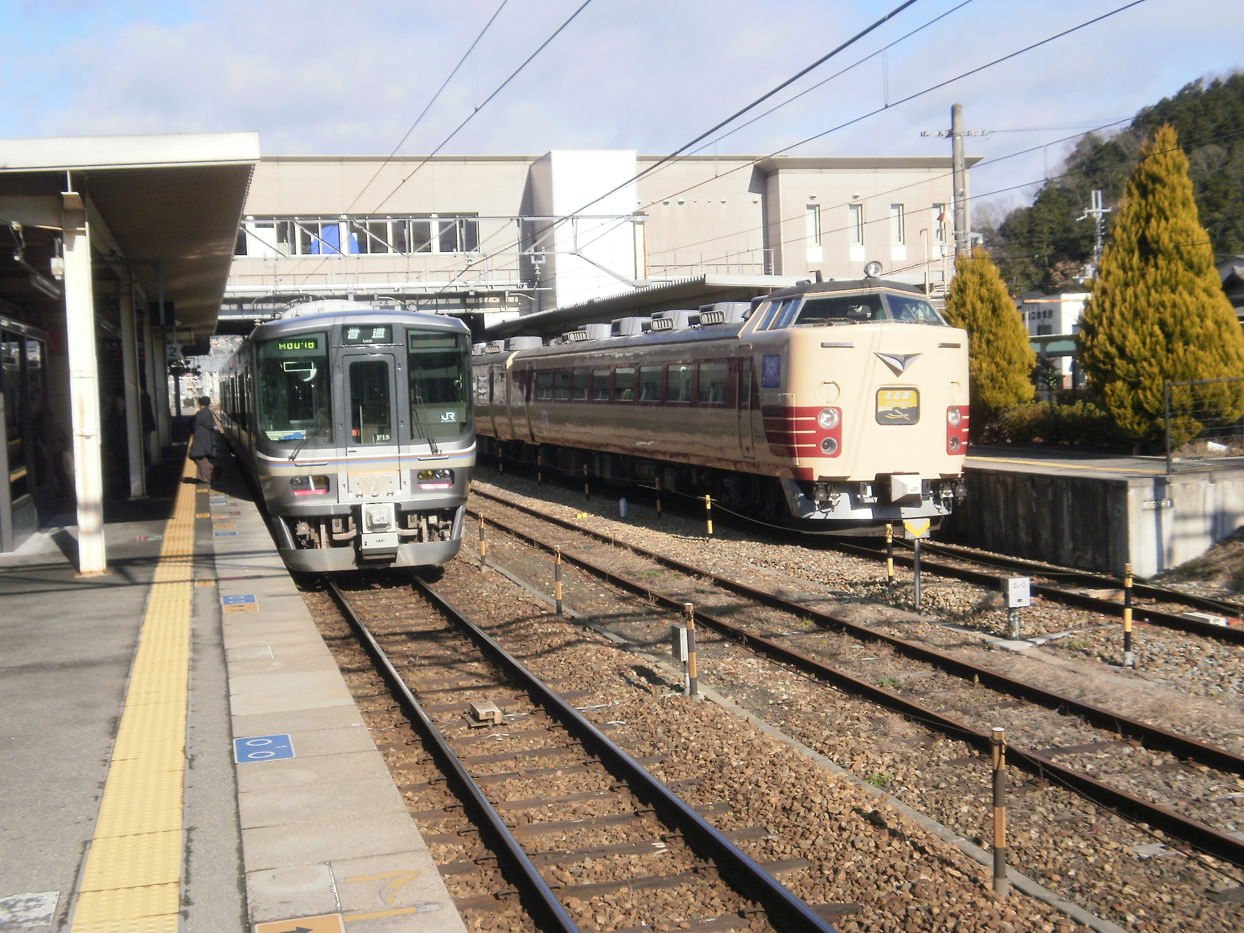
[[[979,434],[1001,412],[1033,401],[1036,355],[998,266],[983,249],[955,260],[945,315],[968,332],[972,425]]]

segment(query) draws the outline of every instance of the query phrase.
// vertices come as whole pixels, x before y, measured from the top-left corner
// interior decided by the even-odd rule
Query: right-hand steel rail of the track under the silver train
[[[547,687],[518,658],[476,626],[462,610],[419,577],[413,576],[413,581],[418,592],[458,624],[485,656],[505,671],[515,683],[526,689],[532,699],[557,719],[567,731],[582,741],[586,750],[595,754],[618,780],[626,782],[636,796],[652,806],[667,825],[682,832],[685,842],[695,852],[712,861],[735,891],[748,899],[759,902],[774,927],[787,933],[836,933],[833,927],[821,919],[811,907],[795,897],[781,882],[756,865],[703,816],[688,806],[682,797],[672,792],[646,768],[618,748],[605,733],[562,699],[557,692]]]

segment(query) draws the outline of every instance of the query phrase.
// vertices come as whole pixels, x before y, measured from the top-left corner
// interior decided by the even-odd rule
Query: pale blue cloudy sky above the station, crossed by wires
[[[508,0],[404,147],[427,152],[582,0]],[[764,154],[883,108],[1126,0],[919,0],[791,92],[889,46],[717,143]],[[258,129],[266,153],[388,153],[500,0],[0,0],[0,137]],[[898,0],[592,0],[448,147],[668,152]],[[934,17],[937,22],[899,41]],[[1080,128],[1244,67],[1244,4],[1146,0],[1004,65],[792,149],[942,154],[921,129],[964,104],[982,202],[1023,203]],[[1045,148],[1042,148],[1045,147]],[[712,151],[712,146],[709,149]],[[1015,188],[1018,185],[1018,188]]]

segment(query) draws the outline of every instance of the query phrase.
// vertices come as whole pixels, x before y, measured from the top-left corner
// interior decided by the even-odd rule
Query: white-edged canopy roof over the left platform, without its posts
[[[128,266],[152,300],[163,277],[178,331],[211,333],[259,157],[253,132],[0,139],[0,243],[30,233],[29,266],[0,266],[0,295],[20,296],[31,272],[49,280],[75,192],[96,253]]]

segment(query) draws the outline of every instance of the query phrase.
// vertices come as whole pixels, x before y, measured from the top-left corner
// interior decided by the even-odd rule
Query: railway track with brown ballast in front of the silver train
[[[583,913],[582,904],[622,891],[637,929],[669,928],[668,908],[653,899],[669,891],[699,914],[682,927],[703,933],[832,933],[827,918],[855,909],[794,896],[775,875],[806,860],[755,862],[739,843],[768,829],[714,829],[705,815],[729,804],[687,804],[644,768],[653,760],[632,758],[607,735],[608,723],[571,704],[590,690],[556,692],[428,583],[326,588],[422,741],[398,749],[414,756],[401,765],[401,786],[424,807],[415,819],[440,830],[429,843],[455,846],[442,873],[479,876],[479,887],[491,888],[458,898],[459,909],[501,909],[516,896],[537,928],[562,933],[580,929],[566,904]],[[486,754],[469,754],[480,749]],[[468,820],[479,843],[463,843]],[[565,868],[583,862],[608,870],[566,883]],[[652,872],[657,862],[662,871]]]

